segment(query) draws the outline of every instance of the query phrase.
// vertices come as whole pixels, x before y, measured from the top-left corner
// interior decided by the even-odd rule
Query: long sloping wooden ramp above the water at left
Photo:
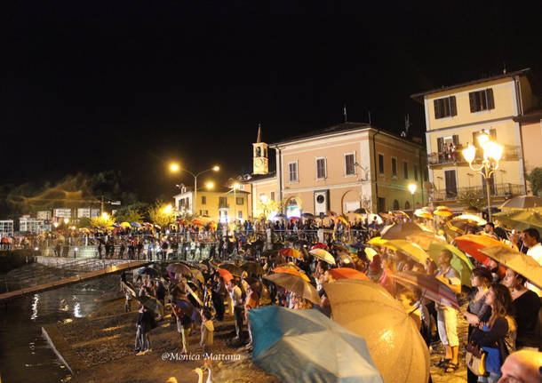
[[[132,268],[147,266],[150,263],[152,262],[136,261],[124,263],[122,265],[101,268],[100,270],[91,271],[82,275],[75,275],[69,278],[60,279],[59,281],[38,284],[36,286],[30,286],[16,291],[4,292],[4,294],[0,294],[0,301],[19,298],[27,294],[35,294],[36,292],[58,289],[60,287],[68,286],[70,284],[84,282],[94,278],[100,278],[100,276],[122,273],[123,271],[131,270]]]

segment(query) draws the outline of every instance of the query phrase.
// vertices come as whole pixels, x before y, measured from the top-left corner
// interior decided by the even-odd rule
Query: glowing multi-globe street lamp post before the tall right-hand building
[[[482,164],[478,167],[473,165],[474,156],[476,156],[476,148],[469,145],[463,149],[462,154],[466,162],[474,172],[482,174],[485,179],[486,191],[488,195],[488,220],[491,221],[491,194],[490,194],[490,177],[498,169],[498,162],[503,155],[503,147],[498,143],[490,141],[490,136],[483,133],[478,136],[478,142],[483,150]]]

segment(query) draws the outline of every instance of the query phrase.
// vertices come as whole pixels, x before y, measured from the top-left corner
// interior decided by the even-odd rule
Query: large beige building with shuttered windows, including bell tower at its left
[[[254,172],[244,177],[253,216],[259,201],[283,201],[287,216],[302,212],[347,213],[411,210],[408,185],[417,185],[415,204],[424,203],[425,149],[418,143],[379,131],[370,124],[344,123],[268,146],[275,149],[276,172],[259,156],[267,144],[254,145]],[[259,148],[259,150],[258,150]]]

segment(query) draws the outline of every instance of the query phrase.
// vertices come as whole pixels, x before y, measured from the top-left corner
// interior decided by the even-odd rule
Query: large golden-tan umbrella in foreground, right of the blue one
[[[429,352],[403,305],[377,283],[342,279],[324,284],[333,320],[367,341],[387,383],[426,383]]]

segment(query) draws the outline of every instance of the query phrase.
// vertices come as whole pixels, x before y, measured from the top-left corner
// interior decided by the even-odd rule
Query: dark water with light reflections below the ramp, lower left
[[[21,267],[24,268],[24,267]],[[42,336],[44,324],[89,315],[100,303],[103,280],[28,295],[0,306],[0,371],[2,382],[66,382],[68,368]]]

